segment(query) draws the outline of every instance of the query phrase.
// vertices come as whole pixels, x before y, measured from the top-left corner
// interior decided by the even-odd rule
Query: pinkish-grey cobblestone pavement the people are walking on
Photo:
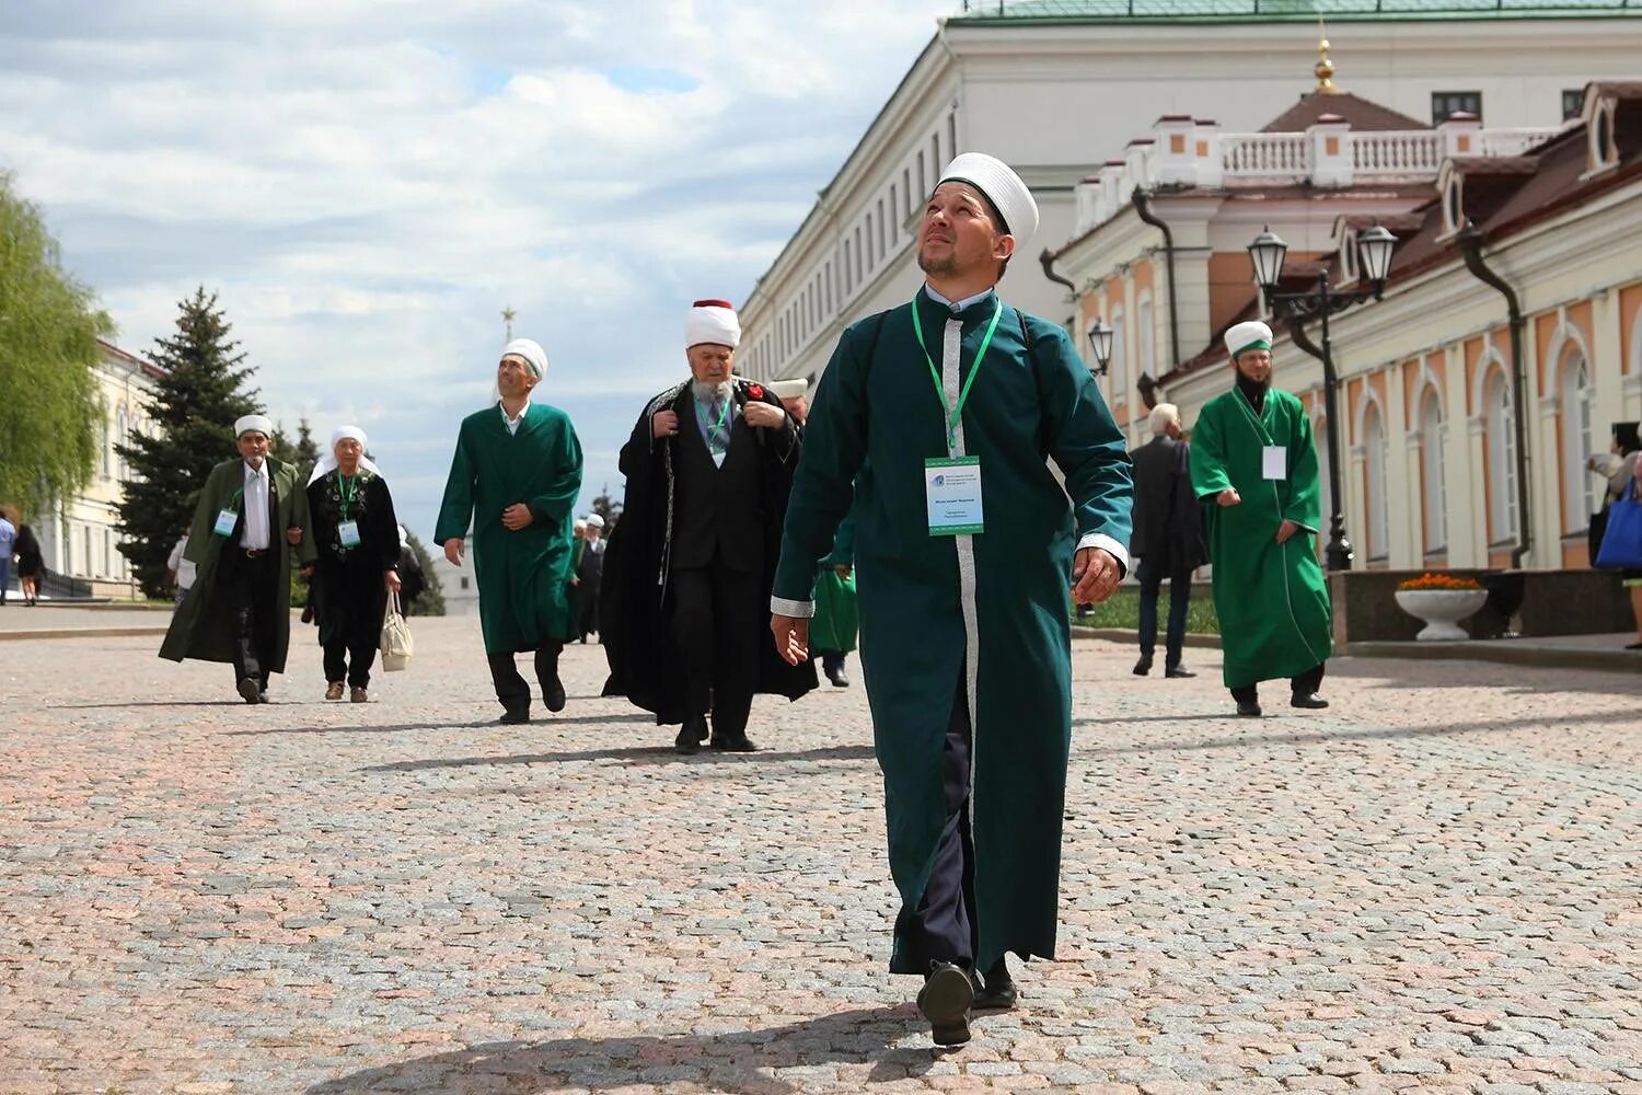
[[[680,758],[594,647],[501,727],[471,619],[369,706],[297,635],[0,645],[0,1092],[1642,1092],[1642,678],[1079,645],[1061,960],[943,1052],[859,685]]]

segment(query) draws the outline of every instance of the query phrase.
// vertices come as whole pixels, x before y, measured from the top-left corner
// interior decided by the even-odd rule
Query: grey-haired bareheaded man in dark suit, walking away
[[[1130,453],[1135,461],[1135,534],[1130,555],[1140,558],[1140,662],[1135,675],[1151,671],[1158,644],[1158,593],[1169,580],[1169,627],[1164,632],[1164,676],[1195,676],[1181,663],[1192,571],[1204,561],[1202,520],[1192,493],[1190,447],[1181,438],[1181,412],[1158,404],[1151,412],[1153,438]]]

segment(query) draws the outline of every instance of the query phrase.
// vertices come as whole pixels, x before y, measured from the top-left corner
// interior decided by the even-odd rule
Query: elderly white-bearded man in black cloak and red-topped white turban
[[[752,696],[816,685],[765,632],[800,433],[772,392],[734,376],[739,341],[727,300],[691,305],[690,379],[645,405],[621,450],[627,494],[604,557],[604,694],[681,724],[683,754],[708,740],[709,714],[714,749],[752,752]]]

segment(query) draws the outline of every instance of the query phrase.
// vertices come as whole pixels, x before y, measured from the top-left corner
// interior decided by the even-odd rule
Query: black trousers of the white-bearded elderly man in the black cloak
[[[675,570],[668,621],[685,670],[685,716],[713,712],[713,735],[747,732],[759,655],[768,642],[770,604],[759,575],[724,566]]]

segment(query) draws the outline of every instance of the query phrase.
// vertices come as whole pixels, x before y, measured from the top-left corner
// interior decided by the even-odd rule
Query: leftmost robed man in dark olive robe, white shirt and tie
[[[233,424],[240,455],[210,470],[182,555],[194,584],[159,647],[171,662],[233,665],[245,703],[268,703],[268,675],[286,671],[291,647],[291,552],[312,575],[305,479],[268,455],[274,424],[248,414]]]

